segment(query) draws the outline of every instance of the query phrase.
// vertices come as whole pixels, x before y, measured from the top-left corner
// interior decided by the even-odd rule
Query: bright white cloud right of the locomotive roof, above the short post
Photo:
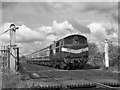
[[[114,45],[118,45],[118,33],[111,28],[105,28],[102,23],[91,23],[88,25],[91,30],[90,34],[87,34],[89,42],[97,44],[100,51],[103,50],[104,41],[107,38],[108,41],[112,41]]]

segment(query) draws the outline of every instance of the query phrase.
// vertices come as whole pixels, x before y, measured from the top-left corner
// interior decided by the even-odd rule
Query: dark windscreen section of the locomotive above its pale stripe
[[[69,44],[87,44],[87,40],[83,36],[74,35],[64,39],[64,45]]]

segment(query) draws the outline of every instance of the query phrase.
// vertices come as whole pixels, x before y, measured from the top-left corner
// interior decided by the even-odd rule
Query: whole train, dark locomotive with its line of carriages
[[[82,68],[88,61],[87,38],[73,34],[26,56],[27,63],[40,64],[61,69]]]

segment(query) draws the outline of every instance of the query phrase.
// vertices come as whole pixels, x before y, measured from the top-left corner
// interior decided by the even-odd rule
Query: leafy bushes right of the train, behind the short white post
[[[104,66],[105,53],[100,52],[95,43],[89,43],[89,62],[95,66]],[[109,45],[110,67],[118,67],[120,64],[120,46]]]

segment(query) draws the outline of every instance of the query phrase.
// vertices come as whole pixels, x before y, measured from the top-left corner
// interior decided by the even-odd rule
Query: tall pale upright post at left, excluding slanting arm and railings
[[[16,29],[18,27],[15,24],[10,25],[10,69],[11,71],[16,71]]]

